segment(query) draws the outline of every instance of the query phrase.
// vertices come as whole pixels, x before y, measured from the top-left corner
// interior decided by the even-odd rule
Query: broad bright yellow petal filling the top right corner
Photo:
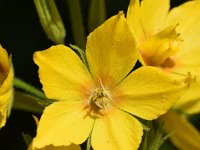
[[[189,1],[172,9],[166,20],[166,27],[178,23],[177,32],[180,33],[184,51],[200,47],[200,1]]]

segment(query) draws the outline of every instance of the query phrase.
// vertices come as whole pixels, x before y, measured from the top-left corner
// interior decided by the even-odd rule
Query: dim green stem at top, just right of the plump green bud
[[[81,49],[85,49],[85,30],[79,0],[66,0],[71,19],[72,32],[75,44]]]

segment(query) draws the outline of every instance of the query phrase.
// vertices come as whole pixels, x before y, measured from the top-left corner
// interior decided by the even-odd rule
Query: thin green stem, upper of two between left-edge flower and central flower
[[[30,85],[18,78],[14,79],[14,86],[16,86],[16,88],[22,89],[30,94],[33,94],[37,97],[40,97],[42,99],[47,99],[47,97],[44,95],[44,93],[42,91],[38,90],[37,88],[33,87],[32,85]]]

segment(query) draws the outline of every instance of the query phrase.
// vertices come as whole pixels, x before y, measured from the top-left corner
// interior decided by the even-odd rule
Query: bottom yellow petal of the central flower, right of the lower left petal
[[[95,120],[92,146],[95,150],[136,150],[141,142],[142,130],[134,117],[116,110]]]

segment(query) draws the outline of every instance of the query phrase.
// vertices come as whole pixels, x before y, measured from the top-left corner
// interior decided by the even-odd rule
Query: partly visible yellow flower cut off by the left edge
[[[13,99],[13,68],[5,49],[0,47],[0,128],[6,123]]]

